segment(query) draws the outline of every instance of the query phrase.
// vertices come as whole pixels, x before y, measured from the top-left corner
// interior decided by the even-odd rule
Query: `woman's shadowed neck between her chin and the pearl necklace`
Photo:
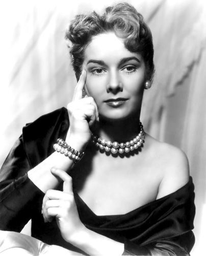
[[[115,121],[100,118],[94,133],[112,142],[130,141],[140,132],[139,122],[138,115]]]

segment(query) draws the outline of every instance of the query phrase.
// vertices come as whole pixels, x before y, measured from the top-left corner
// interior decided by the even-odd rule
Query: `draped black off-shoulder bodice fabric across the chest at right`
[[[89,229],[114,240],[118,236],[118,241],[121,242],[127,238],[133,242],[134,248],[135,244],[142,245],[142,249],[145,249],[144,255],[150,255],[152,251],[157,251],[158,254],[158,248],[165,245],[166,249],[170,246],[181,246],[187,251],[192,249],[194,237],[190,230],[193,228],[195,212],[192,177],[174,193],[124,215],[96,216],[77,193],[74,195],[81,212],[81,220]],[[188,238],[189,241],[186,242],[185,239]]]

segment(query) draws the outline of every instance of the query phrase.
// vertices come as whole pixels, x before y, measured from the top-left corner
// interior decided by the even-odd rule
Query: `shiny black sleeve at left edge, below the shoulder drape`
[[[0,171],[0,229],[21,231],[32,218],[42,191],[28,178],[31,169],[22,137],[12,147]]]

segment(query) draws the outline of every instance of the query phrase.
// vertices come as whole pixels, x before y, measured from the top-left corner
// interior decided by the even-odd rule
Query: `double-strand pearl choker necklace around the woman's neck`
[[[100,138],[99,136],[96,136],[92,134],[92,142],[100,149],[100,151],[104,152],[111,152],[112,154],[123,154],[128,153],[130,151],[137,150],[144,142],[145,133],[143,129],[143,125],[140,122],[140,132],[139,134],[132,140],[127,142],[117,142],[117,141],[106,141],[105,139]]]

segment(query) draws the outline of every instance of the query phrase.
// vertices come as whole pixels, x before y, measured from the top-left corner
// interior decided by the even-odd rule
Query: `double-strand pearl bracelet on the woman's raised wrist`
[[[84,156],[84,152],[79,152],[74,150],[71,146],[69,146],[63,139],[59,138],[57,143],[54,144],[54,150],[64,154],[69,159],[73,160],[74,163],[77,163]]]

